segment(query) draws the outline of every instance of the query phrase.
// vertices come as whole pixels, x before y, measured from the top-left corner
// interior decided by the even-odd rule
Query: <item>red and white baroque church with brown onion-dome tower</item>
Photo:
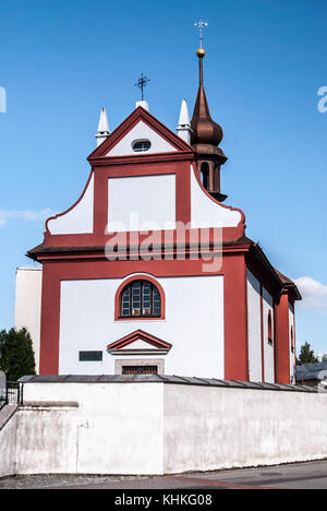
[[[102,109],[83,193],[46,223],[40,375],[179,375],[295,383],[295,284],[227,205],[222,129],[204,88],[177,133],[142,99]]]

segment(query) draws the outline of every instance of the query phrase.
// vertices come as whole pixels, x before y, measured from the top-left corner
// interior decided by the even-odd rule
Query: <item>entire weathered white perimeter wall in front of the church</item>
[[[24,396],[61,404],[29,404],[9,420],[0,476],[164,474],[327,457],[326,394],[142,382],[27,383]],[[63,404],[72,401],[78,407]]]

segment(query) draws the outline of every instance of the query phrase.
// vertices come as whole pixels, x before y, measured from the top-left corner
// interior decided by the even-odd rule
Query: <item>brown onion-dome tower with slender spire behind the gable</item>
[[[191,145],[195,151],[197,173],[204,188],[216,200],[223,202],[227,195],[220,192],[220,167],[227,162],[227,157],[218,147],[223,133],[221,127],[210,117],[203,85],[203,59],[206,52],[201,47],[196,55],[199,67],[199,85],[191,121]]]

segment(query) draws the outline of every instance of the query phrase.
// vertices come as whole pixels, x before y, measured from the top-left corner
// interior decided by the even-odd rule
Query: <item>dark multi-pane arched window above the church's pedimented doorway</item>
[[[161,295],[149,281],[132,281],[121,292],[120,318],[160,318]]]

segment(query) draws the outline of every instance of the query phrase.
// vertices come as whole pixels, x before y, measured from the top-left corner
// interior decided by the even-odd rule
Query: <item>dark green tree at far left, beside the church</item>
[[[35,375],[35,357],[29,333],[26,329],[0,332],[0,370],[9,381]]]

